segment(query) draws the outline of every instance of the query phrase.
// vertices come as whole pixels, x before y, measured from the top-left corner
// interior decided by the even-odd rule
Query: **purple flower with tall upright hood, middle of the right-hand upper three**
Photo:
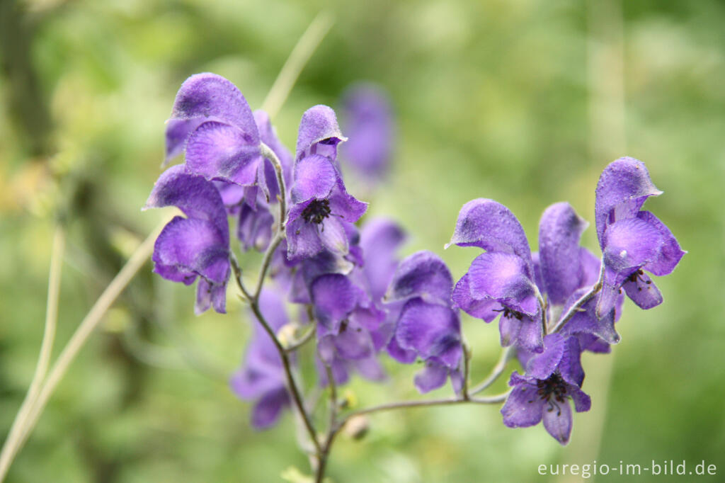
[[[600,260],[579,246],[588,225],[567,202],[547,207],[539,222],[540,289],[557,315],[567,313],[599,279]],[[561,333],[577,334],[582,349],[608,352],[609,344],[619,342],[614,322],[621,314],[621,298],[601,317],[595,315],[595,305],[595,300],[589,300]]]

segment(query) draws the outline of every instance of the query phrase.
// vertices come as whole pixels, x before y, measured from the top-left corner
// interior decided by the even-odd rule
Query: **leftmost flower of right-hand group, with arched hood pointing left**
[[[542,310],[534,282],[534,261],[521,223],[492,199],[463,205],[446,247],[479,247],[471,268],[453,290],[453,301],[473,317],[491,322],[501,315],[501,345],[541,352]]]

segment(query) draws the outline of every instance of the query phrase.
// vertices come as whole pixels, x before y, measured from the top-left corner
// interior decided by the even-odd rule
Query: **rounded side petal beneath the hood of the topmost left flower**
[[[186,170],[207,179],[251,186],[257,183],[261,162],[259,144],[251,144],[243,131],[230,124],[202,123],[186,144]]]

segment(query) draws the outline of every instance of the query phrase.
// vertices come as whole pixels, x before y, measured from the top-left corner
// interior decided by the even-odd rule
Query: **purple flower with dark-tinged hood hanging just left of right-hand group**
[[[450,298],[452,286],[443,260],[422,251],[400,262],[384,297],[394,310],[399,307],[388,352],[402,363],[424,361],[425,368],[414,379],[421,393],[442,387],[449,376],[456,392],[463,387],[460,319]]]

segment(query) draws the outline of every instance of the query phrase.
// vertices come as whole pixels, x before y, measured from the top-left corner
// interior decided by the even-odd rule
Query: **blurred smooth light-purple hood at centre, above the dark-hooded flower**
[[[405,232],[392,220],[373,218],[360,232],[360,247],[366,255],[363,271],[373,300],[381,300],[397,267],[395,254],[405,241]]]

